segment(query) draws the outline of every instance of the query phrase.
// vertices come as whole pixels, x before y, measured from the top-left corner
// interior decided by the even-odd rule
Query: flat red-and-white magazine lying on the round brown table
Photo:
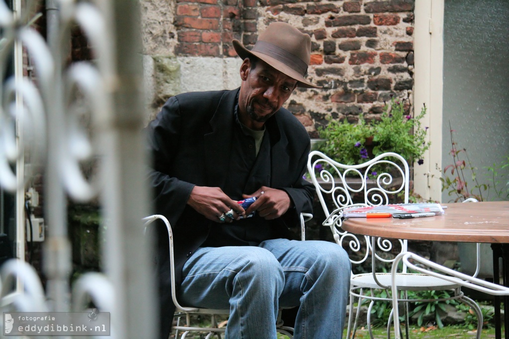
[[[435,213],[443,215],[444,209],[436,203],[389,204],[379,206],[351,207],[343,210],[345,218],[366,218],[370,213],[399,214]]]

